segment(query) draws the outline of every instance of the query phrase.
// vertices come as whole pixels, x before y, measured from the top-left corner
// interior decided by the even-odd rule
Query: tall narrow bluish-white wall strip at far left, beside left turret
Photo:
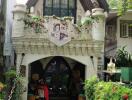
[[[4,36],[4,49],[3,55],[5,56],[4,63],[5,63],[5,70],[9,70],[11,66],[14,66],[14,50],[12,48],[12,23],[13,23],[13,7],[16,3],[15,0],[5,0],[5,36]]]

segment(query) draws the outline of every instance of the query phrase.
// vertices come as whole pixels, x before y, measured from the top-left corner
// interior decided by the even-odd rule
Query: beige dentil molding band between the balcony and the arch
[[[13,38],[13,46],[16,53],[45,54],[51,56],[99,56],[103,47],[101,41],[72,40],[58,47],[46,39]]]

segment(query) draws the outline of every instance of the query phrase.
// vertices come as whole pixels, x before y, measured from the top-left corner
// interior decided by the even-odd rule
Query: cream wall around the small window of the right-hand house
[[[127,12],[117,20],[117,47],[127,46],[126,50],[132,52],[132,38],[120,38],[120,20],[132,20],[132,11]]]

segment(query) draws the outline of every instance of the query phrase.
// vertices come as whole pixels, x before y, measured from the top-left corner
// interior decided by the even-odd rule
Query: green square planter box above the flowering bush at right
[[[123,82],[132,81],[132,67],[121,67],[121,79]]]

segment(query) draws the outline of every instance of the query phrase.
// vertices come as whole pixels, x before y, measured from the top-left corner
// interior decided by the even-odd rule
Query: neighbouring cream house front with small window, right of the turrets
[[[121,16],[118,16],[117,8],[110,10],[106,21],[106,56],[114,57],[116,50],[124,46],[128,52],[132,52],[131,16],[131,9]]]

